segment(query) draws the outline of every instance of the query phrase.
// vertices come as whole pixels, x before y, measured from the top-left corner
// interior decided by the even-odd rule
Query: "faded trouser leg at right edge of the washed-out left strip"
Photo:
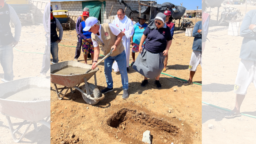
[[[45,53],[43,56],[42,70],[40,73],[45,74],[50,69],[50,38],[46,36]]]

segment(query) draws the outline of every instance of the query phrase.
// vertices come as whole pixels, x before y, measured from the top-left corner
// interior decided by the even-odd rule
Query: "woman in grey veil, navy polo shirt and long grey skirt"
[[[147,85],[148,78],[155,78],[155,84],[161,88],[159,77],[164,67],[163,61],[172,44],[170,28],[166,26],[165,20],[166,16],[163,13],[158,13],[155,19],[150,20],[150,24],[143,32],[140,40],[140,54],[132,67],[144,75],[142,87]],[[142,48],[145,40],[145,46]]]

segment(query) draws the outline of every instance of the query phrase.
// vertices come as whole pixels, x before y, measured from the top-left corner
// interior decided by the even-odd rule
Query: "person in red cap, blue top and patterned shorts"
[[[84,31],[83,29],[86,27],[85,20],[89,17],[89,12],[84,11],[83,12],[83,22],[79,25],[79,41],[82,44],[83,49],[83,57],[84,57],[84,63],[87,64],[87,56],[89,53],[91,53],[91,58],[93,59],[94,55],[94,47],[93,47],[93,41],[91,40],[91,32]]]

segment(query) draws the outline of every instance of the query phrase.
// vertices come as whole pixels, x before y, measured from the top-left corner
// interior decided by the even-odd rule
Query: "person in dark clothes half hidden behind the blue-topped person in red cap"
[[[89,11],[89,8],[87,7],[84,7],[83,8],[83,13],[84,12],[90,12]],[[76,33],[77,33],[77,45],[76,45],[76,54],[75,54],[75,58],[74,58],[74,61],[78,61],[78,58],[80,57],[80,54],[81,54],[81,46],[82,46],[82,43],[80,43],[80,34],[79,34],[79,26],[80,26],[80,23],[84,21],[84,18],[83,18],[83,15],[80,15],[77,20],[76,20]],[[91,55],[90,55],[90,52],[88,53],[88,58],[91,58]]]

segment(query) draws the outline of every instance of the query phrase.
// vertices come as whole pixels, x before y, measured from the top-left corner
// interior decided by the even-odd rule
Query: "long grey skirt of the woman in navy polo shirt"
[[[161,74],[164,61],[165,55],[162,52],[151,53],[143,48],[132,68],[145,77],[153,79]]]

